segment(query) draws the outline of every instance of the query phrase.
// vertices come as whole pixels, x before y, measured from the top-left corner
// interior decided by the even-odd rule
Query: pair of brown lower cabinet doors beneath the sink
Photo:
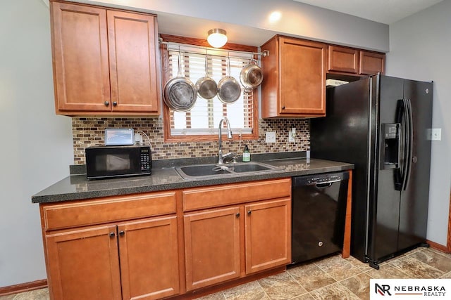
[[[289,199],[203,211],[185,216],[187,291],[290,263]],[[245,214],[242,214],[242,211]],[[245,244],[240,227],[245,226]]]

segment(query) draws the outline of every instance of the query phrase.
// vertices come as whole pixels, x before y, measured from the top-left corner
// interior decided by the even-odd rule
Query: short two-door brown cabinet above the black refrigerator
[[[342,46],[328,46],[328,73],[369,75],[385,69],[385,54]]]

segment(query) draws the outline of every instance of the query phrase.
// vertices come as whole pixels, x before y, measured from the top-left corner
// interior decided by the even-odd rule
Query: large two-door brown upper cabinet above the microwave
[[[159,115],[156,16],[51,2],[56,113]]]

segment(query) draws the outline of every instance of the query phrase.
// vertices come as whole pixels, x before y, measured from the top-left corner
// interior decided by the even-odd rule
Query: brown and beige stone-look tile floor
[[[261,299],[369,299],[370,278],[448,278],[451,279],[451,254],[417,248],[381,263],[374,270],[353,257],[333,255],[288,268],[286,272],[210,294],[199,300]],[[47,300],[47,289],[0,296],[0,300]]]

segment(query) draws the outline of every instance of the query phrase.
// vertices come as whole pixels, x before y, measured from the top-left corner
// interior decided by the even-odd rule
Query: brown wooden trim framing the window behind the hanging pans
[[[163,41],[180,43],[180,44],[190,44],[195,46],[209,47],[209,44],[205,39],[194,39],[190,37],[178,37],[169,34],[159,34]],[[257,52],[258,48],[254,46],[246,46],[240,44],[227,43],[222,49],[230,51],[247,51],[247,52]],[[166,45],[160,43],[160,53],[161,53],[161,77],[162,82],[166,83],[168,81],[168,57],[166,51]],[[165,142],[197,142],[197,141],[218,141],[218,135],[187,135],[187,136],[171,136],[171,112],[168,105],[163,102],[163,136]],[[240,136],[236,132],[233,134],[233,141],[239,141],[241,139],[245,140],[257,140],[259,139],[259,89],[254,91],[252,97],[252,133],[242,134]],[[216,129],[217,130],[217,129]]]

